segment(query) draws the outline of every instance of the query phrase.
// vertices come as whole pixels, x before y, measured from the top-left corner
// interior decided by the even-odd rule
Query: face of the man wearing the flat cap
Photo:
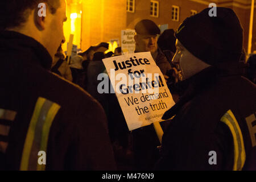
[[[137,34],[134,36],[136,42],[136,51],[137,52],[156,52],[158,49],[157,45],[157,35],[141,35]]]

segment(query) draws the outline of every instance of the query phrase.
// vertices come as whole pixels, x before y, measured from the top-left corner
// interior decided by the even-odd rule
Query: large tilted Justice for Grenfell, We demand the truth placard
[[[162,121],[175,102],[150,52],[102,60],[129,130]]]

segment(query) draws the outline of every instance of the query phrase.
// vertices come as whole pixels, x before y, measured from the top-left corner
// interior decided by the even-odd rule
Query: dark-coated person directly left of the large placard
[[[94,53],[93,60],[89,62],[88,70],[86,71],[86,88],[101,103],[108,117],[109,135],[113,145],[117,169],[121,171],[133,170],[131,135],[117,97],[114,93],[111,93],[111,90],[113,90],[112,84],[106,74],[105,65],[102,62],[102,59],[105,57],[109,57],[109,55],[104,55],[103,52]],[[103,79],[109,80],[109,90],[107,93],[100,93],[98,90],[102,77],[104,77]]]

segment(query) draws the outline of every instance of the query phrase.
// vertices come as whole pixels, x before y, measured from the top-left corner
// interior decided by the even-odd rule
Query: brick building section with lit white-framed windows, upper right
[[[249,38],[249,23],[251,0],[127,0],[127,28],[134,28],[141,19],[151,19],[156,24],[168,24],[174,30],[185,18],[199,13],[210,3],[220,7],[233,9],[238,15],[243,27],[243,47],[247,52]],[[132,9],[134,8],[134,9]],[[256,6],[254,7],[254,11]],[[256,50],[256,12],[254,13],[254,28],[251,52]]]

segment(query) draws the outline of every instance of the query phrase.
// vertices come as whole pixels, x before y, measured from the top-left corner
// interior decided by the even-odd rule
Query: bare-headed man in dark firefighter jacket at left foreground
[[[44,1],[42,17],[40,2],[1,2],[0,168],[116,169],[101,105],[49,71],[65,40],[65,1]]]

